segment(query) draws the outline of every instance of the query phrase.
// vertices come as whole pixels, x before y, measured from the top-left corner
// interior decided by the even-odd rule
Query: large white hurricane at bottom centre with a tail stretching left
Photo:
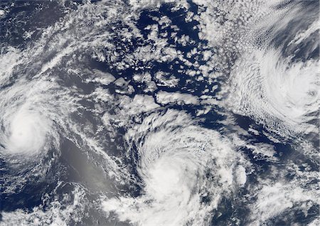
[[[246,182],[245,159],[230,141],[193,124],[183,112],[151,114],[128,131],[127,139],[137,146],[137,171],[144,188],[137,198],[102,203],[120,220],[139,225],[206,225],[220,198]]]

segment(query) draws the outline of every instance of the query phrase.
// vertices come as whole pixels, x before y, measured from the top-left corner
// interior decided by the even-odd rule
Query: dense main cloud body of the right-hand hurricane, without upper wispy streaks
[[[279,50],[243,54],[231,73],[230,105],[282,136],[316,132],[319,111],[319,62],[292,62]]]

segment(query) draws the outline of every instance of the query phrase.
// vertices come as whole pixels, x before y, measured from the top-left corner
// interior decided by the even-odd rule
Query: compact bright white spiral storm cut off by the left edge
[[[3,154],[33,156],[57,144],[58,134],[53,127],[54,104],[51,102],[52,82],[38,80],[16,82],[2,90],[0,102],[0,144]]]

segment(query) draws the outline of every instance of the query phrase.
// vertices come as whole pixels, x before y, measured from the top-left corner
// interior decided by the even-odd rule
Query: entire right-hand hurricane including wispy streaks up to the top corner
[[[253,45],[250,53],[236,60],[231,73],[234,85],[230,101],[240,98],[240,104],[233,109],[251,115],[281,136],[316,134],[319,127],[319,60],[316,57],[319,43],[313,42],[318,31],[318,14],[308,10],[311,7],[289,6],[266,25],[259,26],[271,29],[274,36]],[[295,14],[288,15],[289,10]],[[307,23],[301,24],[297,20],[305,11],[310,15]],[[284,23],[277,26],[280,19],[284,19]],[[285,30],[286,23],[287,26],[294,24],[294,32]],[[287,36],[280,41],[279,36],[285,32]],[[263,37],[265,32],[255,31],[255,36]]]

